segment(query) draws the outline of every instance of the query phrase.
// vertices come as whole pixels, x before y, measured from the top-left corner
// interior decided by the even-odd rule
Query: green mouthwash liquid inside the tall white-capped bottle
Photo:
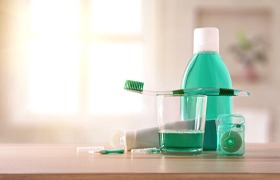
[[[221,56],[216,52],[199,52],[193,56],[187,66],[181,88],[232,88],[230,74]],[[184,110],[188,102],[181,100],[181,116],[189,119]],[[208,96],[204,150],[216,150],[217,130],[215,119],[220,114],[231,114],[232,99],[230,96]]]

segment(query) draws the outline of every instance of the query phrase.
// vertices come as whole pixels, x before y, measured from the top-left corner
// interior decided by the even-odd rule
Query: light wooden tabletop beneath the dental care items
[[[77,153],[81,144],[2,144],[0,179],[280,179],[280,144],[247,144],[243,157]]]

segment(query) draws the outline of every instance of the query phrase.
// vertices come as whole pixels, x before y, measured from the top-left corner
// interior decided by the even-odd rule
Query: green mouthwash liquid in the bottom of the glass
[[[160,131],[159,143],[162,154],[200,154],[203,149],[202,131]]]

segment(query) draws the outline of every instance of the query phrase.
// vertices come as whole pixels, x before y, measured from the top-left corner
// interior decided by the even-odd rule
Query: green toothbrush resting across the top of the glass
[[[144,83],[139,81],[126,80],[124,89],[140,94],[147,95],[207,95],[207,96],[250,96],[249,92],[227,89],[227,88],[191,88],[191,89],[178,89],[172,91],[148,91],[143,90]]]

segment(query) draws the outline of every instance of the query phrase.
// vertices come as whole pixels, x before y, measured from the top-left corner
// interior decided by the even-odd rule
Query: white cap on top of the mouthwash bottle
[[[219,29],[214,27],[194,30],[193,53],[214,51],[219,53]]]

